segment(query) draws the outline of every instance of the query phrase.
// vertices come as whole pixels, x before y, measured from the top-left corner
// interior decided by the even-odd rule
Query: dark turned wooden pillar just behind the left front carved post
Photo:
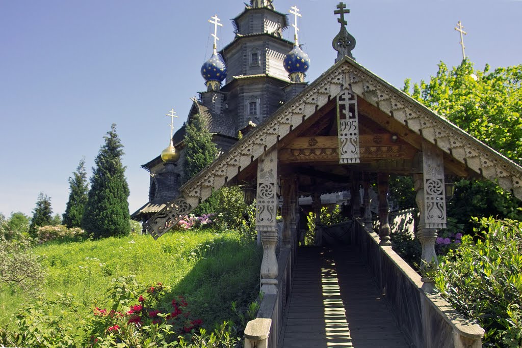
[[[296,229],[296,180],[295,176],[291,175],[281,180],[283,205],[281,207],[281,215],[283,216],[283,235],[282,246],[292,247],[295,239]]]

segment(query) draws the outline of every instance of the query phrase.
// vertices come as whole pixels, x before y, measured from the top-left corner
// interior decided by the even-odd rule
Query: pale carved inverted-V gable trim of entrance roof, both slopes
[[[522,167],[345,57],[298,96],[282,105],[228,152],[187,181],[180,188],[182,201],[189,204],[192,210],[210,196],[212,189],[223,187],[238,173],[254,165],[267,148],[276,145],[307,119],[322,117],[322,110],[328,109],[324,107],[335,103],[336,96],[348,88],[362,101],[360,108],[378,111],[381,117],[374,121],[384,129],[392,132],[406,130],[398,135],[404,135],[408,141],[406,133],[413,134],[417,140],[412,140],[412,144],[424,139],[436,145],[444,152],[446,159],[455,161],[466,172],[471,170],[486,179],[497,181],[500,187],[522,199]]]

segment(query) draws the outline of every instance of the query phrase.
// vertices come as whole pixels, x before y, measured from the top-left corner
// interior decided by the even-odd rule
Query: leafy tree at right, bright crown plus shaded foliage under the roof
[[[410,80],[403,91],[410,92]],[[444,63],[430,81],[415,83],[411,96],[475,138],[522,163],[522,65],[490,72],[465,59],[451,70]],[[399,185],[400,186],[400,185]],[[401,188],[397,189],[401,191]],[[405,187],[404,190],[411,190]],[[461,180],[448,202],[448,218],[472,232],[471,216],[522,219],[521,203],[485,181]]]

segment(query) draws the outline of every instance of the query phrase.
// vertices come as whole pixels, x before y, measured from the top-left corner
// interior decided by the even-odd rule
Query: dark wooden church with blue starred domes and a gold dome
[[[277,12],[272,2],[251,0],[250,5],[245,4],[232,20],[234,39],[220,52],[217,27],[223,24],[217,15],[209,20],[214,24],[213,50],[201,66],[206,90],[193,99],[187,123],[198,114],[220,153],[238,141],[240,131],[244,135],[262,123],[307,84],[304,79],[310,59],[298,43],[299,10],[294,6],[290,11],[295,17],[291,42],[282,38],[289,26],[287,16]],[[171,144],[161,156],[142,166],[150,172],[149,202],[132,214],[133,219],[146,221],[179,195],[184,136],[185,125],[171,136]]]

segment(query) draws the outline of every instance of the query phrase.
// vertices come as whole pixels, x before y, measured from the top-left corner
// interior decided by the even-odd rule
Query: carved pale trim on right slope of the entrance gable
[[[445,153],[522,200],[522,167],[350,59],[353,92]]]

